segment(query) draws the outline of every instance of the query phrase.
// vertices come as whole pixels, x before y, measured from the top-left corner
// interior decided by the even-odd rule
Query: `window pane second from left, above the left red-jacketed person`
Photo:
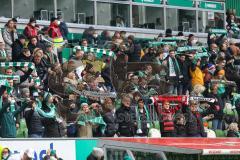
[[[23,9],[24,8],[24,9]],[[29,19],[33,16],[33,0],[14,0],[14,17]]]

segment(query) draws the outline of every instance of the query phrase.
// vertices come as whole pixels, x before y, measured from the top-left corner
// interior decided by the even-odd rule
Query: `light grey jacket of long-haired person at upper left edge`
[[[17,31],[10,32],[8,28],[5,27],[2,36],[6,50],[11,50],[13,42],[18,39]]]

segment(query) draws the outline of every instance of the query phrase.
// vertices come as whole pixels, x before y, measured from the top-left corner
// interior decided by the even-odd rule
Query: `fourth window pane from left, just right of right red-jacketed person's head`
[[[61,14],[65,22],[74,21],[74,0],[58,0],[57,9],[58,14]]]

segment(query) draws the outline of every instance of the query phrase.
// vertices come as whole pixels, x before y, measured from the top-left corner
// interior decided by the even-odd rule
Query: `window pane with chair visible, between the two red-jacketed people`
[[[54,17],[53,0],[35,0],[34,17],[39,20],[51,20]]]

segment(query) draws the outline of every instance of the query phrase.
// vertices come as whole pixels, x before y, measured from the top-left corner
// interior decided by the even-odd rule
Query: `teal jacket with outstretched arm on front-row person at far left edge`
[[[9,102],[3,101],[2,104],[0,104],[0,136],[3,138],[16,138],[17,130],[15,118],[24,110],[25,106],[16,107],[15,111],[11,111],[9,108]]]

